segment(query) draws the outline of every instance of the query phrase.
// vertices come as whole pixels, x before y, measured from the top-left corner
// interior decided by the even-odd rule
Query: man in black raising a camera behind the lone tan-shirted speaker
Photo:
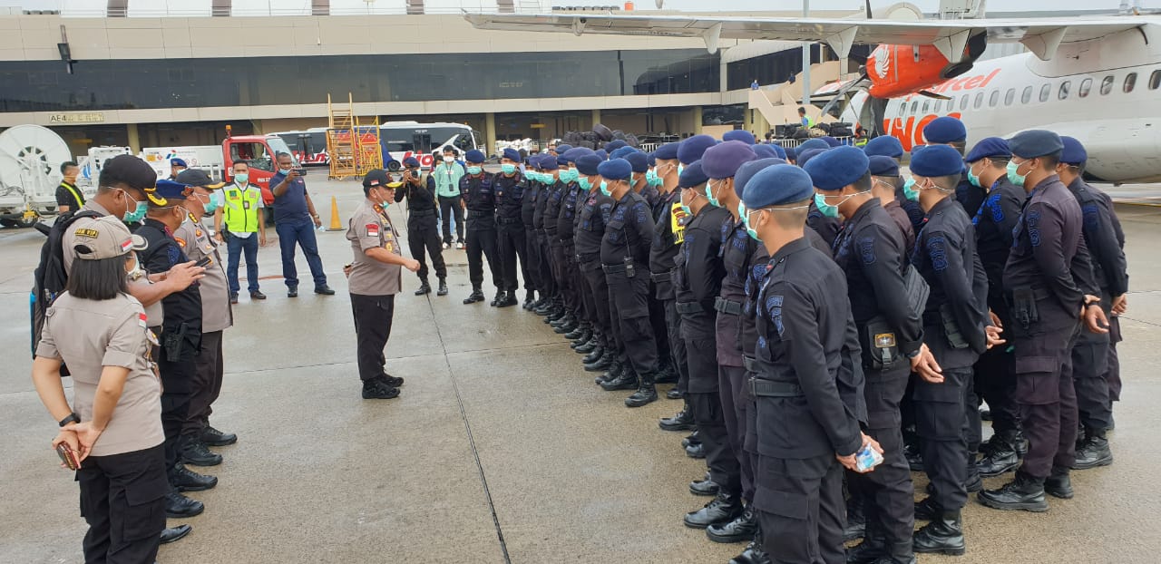
[[[444,252],[439,239],[439,201],[435,197],[435,180],[424,178],[419,171],[419,160],[414,157],[403,159],[406,172],[403,173],[403,186],[395,189],[396,203],[408,198],[408,248],[411,256],[419,261],[419,289],[416,296],[431,294],[427,283],[427,262],[424,252],[431,255],[435,277],[439,279],[437,295],[447,295],[447,267],[444,265]],[[462,183],[462,179],[461,179]]]

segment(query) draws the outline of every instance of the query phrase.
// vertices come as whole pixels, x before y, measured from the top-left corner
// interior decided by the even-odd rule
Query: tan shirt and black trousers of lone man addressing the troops
[[[351,263],[351,308],[355,318],[355,338],[359,344],[359,377],[370,381],[384,375],[383,347],[391,335],[391,318],[395,313],[395,295],[402,283],[402,267],[387,265],[370,256],[369,248],[385,248],[392,254],[399,251],[398,232],[391,225],[387,212],[370,200],[351,217],[347,240],[354,260]]]

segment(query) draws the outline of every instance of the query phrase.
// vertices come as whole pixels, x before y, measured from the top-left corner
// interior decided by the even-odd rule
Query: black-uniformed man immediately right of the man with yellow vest
[[[693,414],[709,467],[709,480],[716,489],[716,497],[705,507],[685,515],[685,525],[699,529],[729,523],[743,512],[738,458],[722,412],[724,400],[721,395],[729,393],[729,386],[720,383],[720,335],[715,328],[714,310],[722,279],[726,277],[722,226],[731,224],[733,219],[729,211],[709,203],[706,195],[709,181],[701,160],[682,171],[678,180],[682,203],[692,217],[684,230],[685,240],[673,274],[675,309],[682,316],[682,337],[685,339],[690,370],[686,411]],[[691,489],[705,490],[707,485],[694,483]]]

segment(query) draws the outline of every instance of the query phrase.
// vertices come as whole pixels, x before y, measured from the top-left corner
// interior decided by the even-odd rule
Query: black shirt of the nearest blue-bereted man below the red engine
[[[915,240],[911,263],[931,288],[923,310],[923,325],[932,354],[943,368],[972,366],[987,348],[983,327],[990,325],[988,280],[975,252],[972,220],[957,201],[945,197],[928,211]],[[967,348],[949,348],[940,317],[944,308],[956,319],[969,345]]]

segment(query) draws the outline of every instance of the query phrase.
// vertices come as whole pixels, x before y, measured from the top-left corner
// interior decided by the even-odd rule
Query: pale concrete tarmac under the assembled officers
[[[317,172],[316,172],[317,171]],[[358,182],[307,181],[326,222],[362,200]],[[1118,205],[1131,288],[1120,344],[1125,392],[1111,434],[1116,462],[1073,473],[1076,497],[1043,514],[965,509],[967,555],[922,563],[1156,563],[1161,491],[1161,211]],[[405,237],[404,212],[391,217]],[[219,478],[192,493],[205,513],[171,525],[193,533],[163,547],[163,563],[724,563],[742,544],[715,544],[682,516],[709,498],[688,493],[705,463],[685,456],[683,433],[658,429],[679,402],[626,408],[605,392],[568,342],[520,308],[462,305],[463,251],[445,251],[450,295],[416,297],[404,273],[387,369],[406,378],[392,400],[363,400],[354,366],[342,265],[344,232],[319,232],[336,296],[286,296],[272,243],[259,253],[266,302],[245,295],[225,333],[226,378],[212,424],[238,434],[216,449]],[[26,316],[43,237],[0,230],[3,456],[0,562],[81,562],[86,525],[77,485],[50,449],[53,422],[29,378]],[[243,268],[243,272],[245,269]],[[298,258],[303,289],[310,279]],[[485,269],[486,272],[486,269]],[[485,275],[486,276],[486,275]],[[434,282],[434,274],[431,275]],[[489,297],[493,288],[485,284]],[[520,296],[522,299],[522,295]],[[68,381],[66,379],[66,385]],[[668,390],[665,385],[662,392]],[[925,479],[914,475],[916,490]],[[1010,475],[986,480],[998,487]]]

